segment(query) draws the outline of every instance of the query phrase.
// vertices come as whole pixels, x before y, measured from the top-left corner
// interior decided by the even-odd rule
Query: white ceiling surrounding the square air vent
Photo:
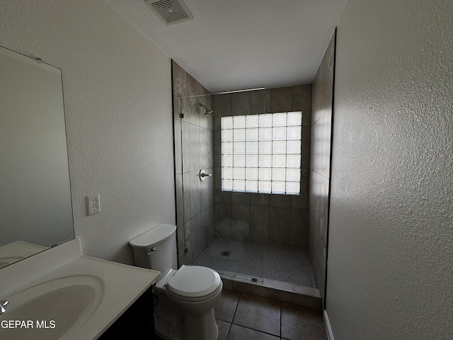
[[[193,20],[171,26],[105,1],[214,93],[310,84],[348,0],[184,0]]]

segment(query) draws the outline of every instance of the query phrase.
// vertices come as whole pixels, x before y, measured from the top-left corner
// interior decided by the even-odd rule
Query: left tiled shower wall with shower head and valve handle
[[[200,103],[212,108],[213,100],[204,86],[176,62],[172,61],[172,64],[176,214],[178,227],[185,222],[178,233],[183,235],[183,243],[189,250],[185,254],[179,240],[178,259],[180,264],[190,264],[207,246],[208,238],[214,237],[214,179],[209,177],[201,182],[198,176],[200,169],[212,173],[214,167],[213,115],[205,116],[205,110],[200,108]],[[184,118],[180,118],[179,113],[183,113]],[[211,221],[211,225],[202,223],[202,217],[205,222]]]

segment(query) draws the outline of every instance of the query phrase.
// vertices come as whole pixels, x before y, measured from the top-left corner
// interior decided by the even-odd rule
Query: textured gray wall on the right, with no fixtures
[[[338,26],[326,310],[336,340],[453,339],[453,2]]]

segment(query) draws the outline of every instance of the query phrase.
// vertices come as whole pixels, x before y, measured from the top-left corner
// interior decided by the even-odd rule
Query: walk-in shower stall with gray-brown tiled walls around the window
[[[329,54],[326,53],[326,56],[328,57]],[[310,187],[312,182],[321,183],[317,175],[323,176],[328,181],[326,170],[323,168],[321,171],[321,168],[316,165],[322,162],[323,166],[329,166],[325,158],[330,159],[330,149],[328,149],[328,155],[319,152],[322,139],[327,136],[324,132],[322,135],[319,134],[319,126],[321,123],[328,125],[328,138],[330,138],[331,125],[331,120],[327,121],[328,115],[324,112],[321,112],[321,115],[319,113],[320,106],[328,104],[326,93],[332,92],[332,84],[326,81],[326,74],[330,74],[326,63],[333,60],[324,60],[315,79],[313,99],[312,84],[210,94],[176,62],[172,62],[179,266],[212,264],[217,266],[214,269],[222,269],[219,267],[225,262],[222,262],[224,259],[221,258],[220,253],[229,253],[229,251],[222,251],[224,247],[224,249],[237,250],[236,254],[231,254],[229,261],[248,263],[248,266],[241,267],[243,271],[269,272],[268,268],[264,268],[266,263],[270,266],[270,263],[276,263],[274,260],[280,258],[282,263],[280,266],[277,264],[277,272],[273,275],[268,273],[268,276],[290,280],[291,277],[298,276],[297,271],[304,272],[301,266],[308,263],[311,276],[314,275],[316,280],[324,279],[321,272],[323,268],[325,269],[325,263],[314,263],[314,259],[311,259],[315,268],[313,274],[308,257],[310,251],[311,257],[316,256],[316,261],[326,259],[326,256],[323,256],[326,230],[323,229],[320,232],[318,228],[320,225],[324,227],[323,220],[328,208],[325,204],[325,198],[328,197],[328,182],[327,191],[321,194],[318,185],[316,185],[316,191],[311,190]],[[205,115],[205,108],[202,108],[200,103],[214,113]],[[315,121],[312,121],[312,106],[317,114]],[[292,111],[302,111],[300,194],[297,196],[222,191],[221,118]],[[319,116],[322,117],[321,120]],[[316,134],[313,133],[313,128],[316,129]],[[310,145],[313,136],[316,137],[319,145]],[[313,151],[316,154],[313,154]],[[310,164],[310,162],[316,162],[316,164]],[[206,173],[212,176],[207,176],[205,181],[200,181],[200,169],[205,169]],[[309,213],[311,207],[309,196],[314,200],[311,205],[318,202],[315,208],[321,217]],[[319,203],[320,201],[322,202]],[[314,244],[313,249],[311,243]],[[263,244],[268,244],[270,248],[263,250],[263,255],[259,255],[259,249],[262,249]],[[251,249],[255,250],[251,251]],[[212,251],[219,254],[210,258]],[[270,260],[265,259],[267,256],[265,253],[270,251],[272,251]],[[278,251],[282,252],[278,253]],[[288,269],[291,272],[284,274],[282,273],[283,264],[285,264],[283,262],[286,261],[285,256],[287,257],[290,253],[293,257],[297,254],[299,262],[293,263],[296,267]],[[245,258],[245,256],[248,257]],[[260,265],[264,267],[258,268]],[[251,275],[258,275],[253,273]],[[313,281],[311,286],[316,287],[314,279],[311,281]],[[310,286],[310,280],[307,282],[309,283],[306,285]],[[323,283],[321,287],[323,288]]]

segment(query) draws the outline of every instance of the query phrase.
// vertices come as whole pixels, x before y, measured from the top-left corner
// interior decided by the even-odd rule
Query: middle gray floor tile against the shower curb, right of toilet
[[[241,293],[233,324],[280,336],[280,301]]]

